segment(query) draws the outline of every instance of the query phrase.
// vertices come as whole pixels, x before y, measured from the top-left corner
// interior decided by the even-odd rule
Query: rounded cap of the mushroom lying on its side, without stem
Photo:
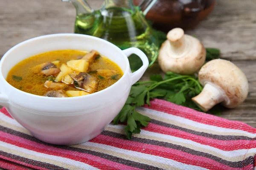
[[[230,61],[211,60],[201,68],[198,77],[201,85],[213,83],[225,92],[228,99],[221,104],[227,108],[235,108],[247,97],[248,80],[245,74]]]

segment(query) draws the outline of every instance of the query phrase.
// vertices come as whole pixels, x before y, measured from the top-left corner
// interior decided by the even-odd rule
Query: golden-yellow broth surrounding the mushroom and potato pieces
[[[9,71],[6,81],[9,82],[9,84],[14,86],[15,88],[20,89],[21,91],[24,91],[30,94],[39,95],[39,96],[44,96],[44,94],[52,90],[56,90],[56,91],[63,90],[64,92],[80,91],[80,89],[75,88],[74,84],[67,85],[64,83],[63,83],[64,84],[63,87],[59,87],[55,89],[47,88],[44,86],[44,82],[47,81],[48,79],[53,79],[54,81],[55,77],[58,74],[55,74],[49,77],[41,74],[40,72],[35,73],[35,71],[33,71],[33,68],[35,68],[35,66],[40,65],[42,63],[53,62],[56,60],[58,60],[60,63],[56,66],[60,68],[63,63],[67,63],[67,61],[70,61],[70,60],[76,60],[78,59],[78,57],[81,58],[87,53],[88,53],[87,51],[79,51],[79,50],[59,50],[59,51],[49,51],[46,53],[29,57],[19,62]],[[110,76],[106,77],[105,75],[101,75],[97,73],[96,70],[98,69],[114,70],[115,74],[120,75],[119,78],[121,78],[123,75],[123,72],[118,65],[116,65],[114,62],[112,62],[108,58],[100,55],[99,58],[95,59],[93,62],[90,62],[89,69],[87,71],[87,72],[89,71],[93,72],[92,74],[90,73],[89,74],[92,77],[94,77],[97,82],[96,88],[92,93],[108,88],[109,86],[117,82],[119,79],[119,78],[111,79]],[[74,71],[74,73],[78,74],[77,71]],[[13,79],[13,75],[15,75],[15,77],[18,77],[18,79],[17,78]]]

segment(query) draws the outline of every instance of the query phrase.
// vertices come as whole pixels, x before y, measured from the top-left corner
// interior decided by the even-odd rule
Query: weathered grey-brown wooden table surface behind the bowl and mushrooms
[[[89,0],[100,6],[102,0]],[[0,58],[19,42],[55,33],[73,33],[76,11],[61,0],[3,0],[0,4]],[[217,0],[212,14],[194,30],[206,47],[221,49],[221,58],[231,60],[246,74],[250,91],[238,108],[221,117],[256,127],[256,2]]]

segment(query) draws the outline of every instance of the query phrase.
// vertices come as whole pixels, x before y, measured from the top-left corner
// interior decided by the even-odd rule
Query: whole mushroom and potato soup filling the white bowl
[[[123,75],[97,51],[49,51],[15,65],[6,78],[12,86],[47,97],[75,97],[101,91]]]

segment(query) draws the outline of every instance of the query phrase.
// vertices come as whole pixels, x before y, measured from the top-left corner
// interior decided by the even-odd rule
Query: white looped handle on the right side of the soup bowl
[[[149,64],[148,57],[139,48],[132,47],[132,48],[123,50],[123,52],[127,57],[129,57],[131,54],[136,54],[137,56],[140,57],[140,59],[143,62],[143,66],[139,70],[131,74],[131,84],[133,85],[134,83],[139,81],[139,79],[143,76],[146,69],[148,68],[148,64]]]

